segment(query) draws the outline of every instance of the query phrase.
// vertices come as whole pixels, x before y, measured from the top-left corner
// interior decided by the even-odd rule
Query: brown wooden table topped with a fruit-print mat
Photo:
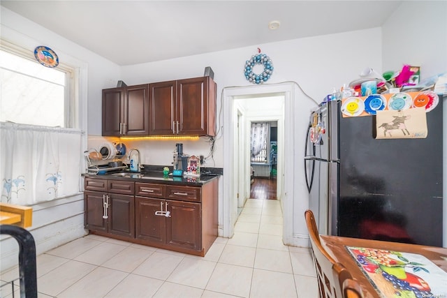
[[[325,248],[326,251],[332,256],[332,258],[335,259],[337,262],[341,262],[344,267],[346,267],[352,274],[353,278],[360,283],[360,287],[362,288],[363,295],[365,298],[369,297],[393,297],[392,292],[396,292],[395,288],[388,287],[386,283],[390,283],[390,281],[387,281],[384,276],[387,274],[384,273],[385,271],[388,272],[388,268],[375,266],[372,269],[367,268],[367,265],[371,263],[374,265],[375,259],[370,261],[368,260],[364,264],[360,264],[361,260],[358,262],[358,255],[356,253],[359,253],[359,250],[356,250],[355,248],[374,248],[376,250],[383,250],[383,251],[390,251],[390,252],[400,252],[402,254],[402,260],[400,258],[396,258],[397,262],[399,262],[397,265],[393,266],[398,267],[400,264],[406,264],[408,267],[419,267],[416,262],[411,263],[413,260],[411,260],[413,257],[415,257],[415,260],[421,259],[421,260],[427,260],[426,262],[420,262],[420,267],[424,269],[416,269],[416,274],[421,274],[421,271],[425,271],[425,268],[430,268],[432,271],[433,276],[438,278],[436,281],[436,290],[437,292],[434,293],[435,297],[447,297],[447,248],[441,248],[441,247],[434,247],[434,246],[422,246],[422,245],[416,245],[416,244],[402,244],[402,243],[396,243],[396,242],[389,242],[389,241],[376,241],[376,240],[369,240],[369,239],[358,239],[358,238],[348,238],[348,237],[337,237],[337,236],[329,236],[329,235],[320,235],[321,244]],[[355,252],[356,253],[355,253]],[[363,251],[368,251],[367,249],[360,249],[361,253]],[[416,255],[410,255],[410,254],[416,254]],[[399,255],[399,253],[397,253]],[[394,254],[392,254],[393,257],[395,257]],[[392,259],[393,260],[393,259]],[[380,261],[382,262],[382,261]],[[393,260],[393,262],[395,262]],[[402,262],[402,263],[400,263]],[[367,264],[367,265],[365,265]],[[407,268],[405,265],[400,266],[401,268]],[[377,269],[379,268],[379,269]],[[377,269],[374,271],[374,269]],[[383,269],[383,270],[382,270]],[[413,269],[413,268],[411,268]],[[404,274],[405,281],[409,281],[409,278],[413,276],[413,271],[410,269],[405,269],[407,272],[410,272],[409,274]],[[418,271],[419,270],[419,271]],[[371,271],[372,273],[369,274],[368,271]],[[427,270],[428,271],[428,270]],[[388,272],[390,273],[390,272]],[[394,272],[393,272],[394,273]],[[399,276],[399,274],[396,274],[396,276]],[[381,288],[381,284],[374,282],[379,281],[379,279],[383,280],[383,285],[386,287]],[[419,280],[420,281],[420,280]],[[393,282],[393,281],[391,281]],[[423,281],[421,281],[422,286],[424,286]],[[429,283],[430,285],[434,285],[434,283]],[[392,285],[392,284],[390,284]],[[414,282],[411,282],[411,285],[414,285]],[[418,285],[420,286],[420,285]],[[426,285],[425,285],[426,286]],[[381,288],[381,290],[376,290],[376,288]],[[434,287],[433,287],[434,288]],[[382,294],[379,294],[381,292]],[[384,294],[386,293],[386,294]],[[425,296],[425,297],[430,297]],[[432,296],[433,297],[433,296]]]

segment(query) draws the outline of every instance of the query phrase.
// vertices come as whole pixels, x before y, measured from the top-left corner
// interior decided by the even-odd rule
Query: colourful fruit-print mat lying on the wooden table
[[[382,297],[447,297],[447,273],[423,255],[351,247],[346,249]]]

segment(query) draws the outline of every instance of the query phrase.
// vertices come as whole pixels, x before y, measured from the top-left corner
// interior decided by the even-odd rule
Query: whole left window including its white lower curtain
[[[1,202],[31,205],[80,192],[83,133],[75,68],[47,68],[1,42]]]

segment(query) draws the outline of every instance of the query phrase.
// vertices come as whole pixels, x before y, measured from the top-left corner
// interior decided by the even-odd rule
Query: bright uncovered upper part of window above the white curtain
[[[2,42],[3,45],[3,42]],[[73,68],[47,68],[31,52],[0,49],[0,121],[39,126],[73,127]]]

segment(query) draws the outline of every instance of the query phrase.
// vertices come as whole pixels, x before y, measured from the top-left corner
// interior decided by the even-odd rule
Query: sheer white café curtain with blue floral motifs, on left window
[[[80,192],[78,130],[1,123],[1,202],[30,205]]]

